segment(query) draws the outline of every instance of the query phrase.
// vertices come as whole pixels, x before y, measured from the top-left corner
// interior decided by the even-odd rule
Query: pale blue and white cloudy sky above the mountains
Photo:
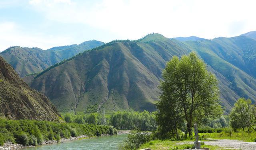
[[[0,0],[0,51],[96,39],[233,37],[256,30],[255,0]]]

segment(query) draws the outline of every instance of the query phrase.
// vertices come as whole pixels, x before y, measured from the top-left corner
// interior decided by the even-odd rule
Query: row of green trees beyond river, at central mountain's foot
[[[119,130],[138,129],[142,131],[156,130],[156,112],[130,112],[117,111],[105,115],[105,113],[90,114],[66,114],[64,119],[66,122],[76,122],[80,124],[98,124],[111,125]]]

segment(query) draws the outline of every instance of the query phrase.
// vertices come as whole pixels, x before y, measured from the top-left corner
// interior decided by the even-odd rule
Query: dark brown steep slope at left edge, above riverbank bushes
[[[0,118],[59,120],[54,105],[0,57]]]

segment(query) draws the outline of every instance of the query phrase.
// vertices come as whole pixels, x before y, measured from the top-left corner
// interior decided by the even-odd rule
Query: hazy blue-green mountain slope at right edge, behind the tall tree
[[[244,36],[216,38],[213,40],[187,41],[192,50],[204,59],[215,71],[224,77],[236,96],[230,99],[230,92],[222,96],[235,102],[238,97],[256,100],[256,41]],[[223,80],[220,82],[224,83]],[[223,87],[222,91],[226,91]],[[233,104],[231,103],[231,104]]]

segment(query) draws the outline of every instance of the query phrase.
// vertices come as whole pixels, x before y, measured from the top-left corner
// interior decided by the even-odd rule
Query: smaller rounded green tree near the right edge
[[[250,110],[252,101],[250,99],[240,98],[236,101],[234,108],[230,113],[230,124],[234,129],[243,129],[252,124],[252,111]]]

